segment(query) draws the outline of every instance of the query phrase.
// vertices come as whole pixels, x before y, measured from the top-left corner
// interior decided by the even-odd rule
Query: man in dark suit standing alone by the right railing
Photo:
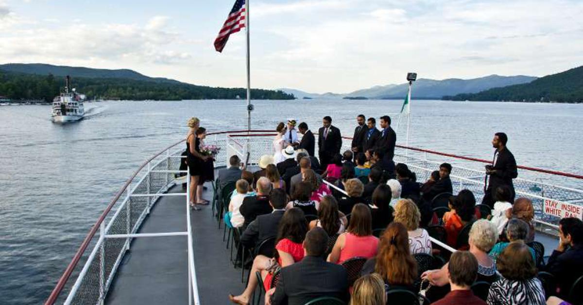
[[[494,152],[494,161],[492,165],[486,165],[486,175],[489,175],[488,187],[484,193],[482,204],[494,207],[494,192],[496,188],[501,185],[507,185],[512,194],[512,201],[514,202],[514,184],[512,179],[518,177],[518,169],[514,155],[506,147],[508,136],[504,132],[497,132],[492,139],[492,146],[496,148]]]

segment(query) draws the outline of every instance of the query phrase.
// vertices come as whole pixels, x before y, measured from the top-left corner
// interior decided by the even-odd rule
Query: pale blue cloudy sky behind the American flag
[[[419,77],[544,76],[583,65],[581,0],[250,0],[253,87],[350,92]],[[0,63],[128,68],[245,86],[234,0],[0,0]]]

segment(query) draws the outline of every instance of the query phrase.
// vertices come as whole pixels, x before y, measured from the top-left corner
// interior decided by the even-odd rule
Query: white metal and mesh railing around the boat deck
[[[248,165],[254,165],[258,163],[259,157],[262,155],[273,154],[273,135],[275,134],[272,131],[214,132],[209,133],[205,142],[208,145],[213,144],[222,148],[219,155],[216,156],[215,166],[217,167],[228,164],[231,155],[238,155],[241,160],[248,160]],[[349,141],[345,139],[343,142],[345,142],[343,149],[349,149]],[[167,193],[177,183],[175,175],[186,172],[179,170],[181,153],[184,152],[184,148],[180,148],[179,145],[184,145],[184,140],[174,143],[174,145],[150,157],[118,191],[87,234],[86,239],[45,304],[54,304],[58,300],[65,304],[103,304],[115,277],[115,272],[124,254],[131,247],[131,241],[135,238],[162,238],[166,236],[187,237],[188,261],[185,262],[185,266],[188,265],[189,304],[200,304],[192,247],[196,241],[192,240],[188,194]],[[405,153],[406,150],[410,151]],[[477,199],[481,198],[484,185],[483,171],[473,169],[472,165],[467,166],[467,164],[458,162],[459,159],[453,155],[437,153],[437,155],[447,156],[442,157],[441,160],[429,160],[428,155],[431,153],[401,146],[396,149],[395,162],[408,164],[409,169],[416,173],[418,181],[424,181],[423,179],[428,178],[431,171],[438,169],[438,164],[450,162],[454,168],[451,174],[454,192],[468,188],[474,192]],[[476,167],[475,164],[476,162],[473,162],[473,167]],[[482,167],[482,164],[479,165]],[[517,194],[533,200],[538,224],[556,230],[558,219],[545,217],[542,213],[542,201],[549,199],[580,204],[583,198],[583,191],[581,191],[583,179],[577,177],[573,179],[575,182],[570,183],[570,187],[561,187],[555,183],[543,183],[536,179],[519,178],[514,181]],[[187,181],[189,184],[188,173]],[[165,196],[185,197],[186,231],[138,233],[143,220],[157,199]],[[455,251],[438,240],[432,239],[432,241],[448,251]],[[85,251],[90,246],[93,247],[92,251],[87,254]],[[79,262],[82,260],[85,262],[81,268]],[[69,281],[70,279],[75,279],[75,281]],[[59,299],[62,290],[68,291],[65,300]],[[61,297],[65,298],[65,295],[63,294]]]

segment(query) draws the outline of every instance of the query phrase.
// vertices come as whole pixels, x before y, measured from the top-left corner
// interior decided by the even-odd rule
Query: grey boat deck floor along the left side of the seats
[[[212,186],[203,193],[212,198]],[[184,192],[175,186],[169,192]],[[139,233],[186,231],[185,198],[162,197],[153,206]],[[191,211],[194,261],[201,304],[229,302],[240,293],[241,269],[233,268],[223,229],[211,217],[210,205]],[[187,304],[187,237],[139,237],[132,241],[106,297],[106,304]]]

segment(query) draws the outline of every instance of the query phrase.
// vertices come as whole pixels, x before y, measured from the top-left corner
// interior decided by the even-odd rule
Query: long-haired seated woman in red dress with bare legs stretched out
[[[252,275],[257,271],[261,274],[264,284],[267,286],[266,290],[269,290],[271,286],[272,270],[279,267],[287,267],[304,258],[302,243],[307,230],[308,224],[305,222],[304,213],[300,209],[290,209],[283,213],[279,223],[278,237],[276,238],[275,260],[265,255],[257,255],[251,267]],[[253,295],[257,287],[257,282],[257,276],[249,276],[247,288],[243,293],[238,296],[229,295],[229,300],[235,304],[249,304],[251,295]]]

